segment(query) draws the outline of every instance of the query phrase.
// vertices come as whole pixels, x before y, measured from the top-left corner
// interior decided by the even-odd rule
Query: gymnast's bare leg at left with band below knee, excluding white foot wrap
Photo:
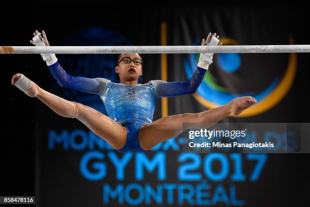
[[[21,74],[14,75],[11,83],[14,85],[20,76]],[[97,110],[82,103],[65,100],[40,88],[35,83],[25,93],[30,97],[37,97],[62,117],[78,119],[96,135],[104,139],[112,148],[118,150],[125,145],[126,127]]]

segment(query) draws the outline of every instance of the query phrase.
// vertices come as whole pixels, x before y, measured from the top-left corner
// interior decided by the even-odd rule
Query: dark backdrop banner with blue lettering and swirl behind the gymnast
[[[44,29],[53,46],[161,45],[163,24],[167,45],[199,45],[208,32],[217,32],[226,45],[309,44],[303,7],[128,5],[54,5],[49,12],[18,9],[17,19],[6,14],[12,18],[4,22],[0,45],[30,46],[34,29]],[[117,55],[57,57],[70,75],[119,81],[114,73]],[[161,80],[162,56],[142,57],[140,83]],[[168,54],[168,81],[186,81],[197,57]],[[290,54],[216,54],[205,85],[196,95],[169,98],[168,114],[198,113],[208,110],[209,103],[224,103],[240,94],[260,94],[263,101],[266,88],[274,90],[285,77],[290,58]],[[296,76],[281,100],[255,115],[223,122],[309,122],[309,55],[299,53],[296,58]],[[78,120],[59,117],[10,81],[15,73],[23,73],[47,91],[105,113],[98,96],[61,88],[40,55],[2,55],[0,62],[5,73],[3,98],[9,99],[1,144],[3,196],[34,195],[42,206],[309,202],[308,154],[183,153],[177,138],[147,153],[117,153]],[[161,118],[163,107],[159,101],[153,120]]]

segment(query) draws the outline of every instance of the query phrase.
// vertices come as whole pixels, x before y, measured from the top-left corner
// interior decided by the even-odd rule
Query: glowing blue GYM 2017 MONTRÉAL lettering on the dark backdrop
[[[152,153],[105,151],[110,147],[103,139],[80,129],[60,134],[50,130],[48,148],[55,153],[83,152],[78,182],[93,183],[87,192],[94,192],[100,184],[101,198],[89,193],[87,199],[90,203],[100,199],[111,206],[244,205],[239,184],[259,181],[268,159],[267,154],[182,152],[175,137]],[[249,164],[250,168],[245,167]]]

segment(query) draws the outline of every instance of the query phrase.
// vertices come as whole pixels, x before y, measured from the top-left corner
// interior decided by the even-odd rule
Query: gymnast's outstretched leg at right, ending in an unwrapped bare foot
[[[239,115],[256,102],[251,96],[239,97],[224,106],[201,113],[178,114],[167,116],[151,124],[142,125],[139,132],[139,143],[142,149],[149,150],[157,144],[171,139],[183,131],[183,123],[204,123],[212,126],[230,113]]]

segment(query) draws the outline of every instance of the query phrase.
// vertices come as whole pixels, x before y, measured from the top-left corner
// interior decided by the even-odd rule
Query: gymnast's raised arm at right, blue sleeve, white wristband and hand
[[[211,38],[209,33],[207,39],[203,39],[202,46],[217,46],[222,45],[218,40],[219,36],[216,33]],[[209,65],[212,63],[213,53],[201,53],[196,71],[192,74],[191,78],[185,82],[165,82],[165,81],[151,81],[155,86],[156,94],[158,97],[173,97],[178,95],[185,95],[195,93],[200,86]]]

